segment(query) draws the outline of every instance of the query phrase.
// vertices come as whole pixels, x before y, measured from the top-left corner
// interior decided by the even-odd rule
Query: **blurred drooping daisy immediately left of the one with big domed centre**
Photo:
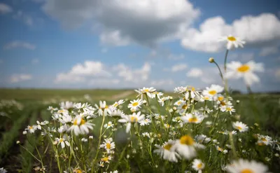
[[[157,149],[155,149],[153,153],[157,153],[164,160],[169,160],[170,162],[178,162],[178,158],[181,159],[181,157],[178,153],[176,153],[176,151],[174,151],[174,144],[175,141],[171,139],[165,141],[162,146],[156,144],[155,147],[157,147]]]

